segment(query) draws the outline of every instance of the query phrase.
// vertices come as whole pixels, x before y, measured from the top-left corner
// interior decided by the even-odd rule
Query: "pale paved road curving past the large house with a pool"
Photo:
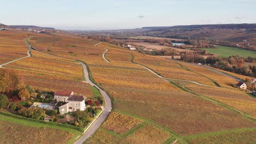
[[[104,92],[100,87],[95,85],[93,82],[91,82],[91,80],[89,79],[88,68],[84,63],[80,62],[80,64],[82,64],[83,66],[86,82],[88,82],[91,86],[95,86],[96,88],[99,89],[100,93],[104,98],[105,105],[101,115],[96,118],[95,122],[91,124],[88,130],[84,133],[82,137],[80,137],[78,141],[75,142],[75,144],[82,144],[85,140],[87,140],[90,136],[92,136],[95,133],[95,131],[101,127],[101,124],[106,120],[106,118],[108,117],[108,114],[112,110],[111,100],[108,97],[108,94]]]

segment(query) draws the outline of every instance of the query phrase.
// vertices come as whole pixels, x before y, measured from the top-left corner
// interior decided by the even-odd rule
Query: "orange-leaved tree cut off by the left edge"
[[[0,92],[7,92],[9,88],[9,74],[4,69],[0,69]]]

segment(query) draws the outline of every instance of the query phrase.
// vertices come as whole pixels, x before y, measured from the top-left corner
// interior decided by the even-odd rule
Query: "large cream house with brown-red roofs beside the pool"
[[[56,101],[65,101],[66,104],[59,106],[59,112],[63,115],[67,112],[74,112],[77,110],[85,110],[85,99],[83,95],[73,95],[72,91],[56,91],[54,99]]]

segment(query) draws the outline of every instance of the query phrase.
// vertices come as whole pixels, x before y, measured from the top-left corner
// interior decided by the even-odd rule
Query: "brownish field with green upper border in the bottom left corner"
[[[0,115],[1,143],[73,143],[77,130]],[[8,139],[7,139],[8,137]]]

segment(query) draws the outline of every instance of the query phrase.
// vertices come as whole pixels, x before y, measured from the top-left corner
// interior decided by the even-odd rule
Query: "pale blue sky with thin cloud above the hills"
[[[65,30],[256,23],[256,0],[0,0],[0,23]]]

